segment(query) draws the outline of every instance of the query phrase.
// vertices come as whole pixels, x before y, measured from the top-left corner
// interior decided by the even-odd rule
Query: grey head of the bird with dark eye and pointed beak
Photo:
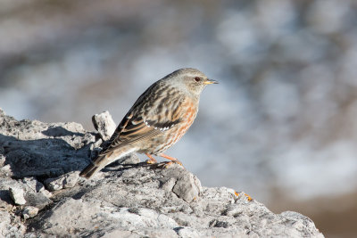
[[[165,83],[179,87],[180,90],[187,91],[192,96],[199,97],[204,86],[218,84],[216,80],[207,78],[200,70],[184,68],[170,73],[162,78]]]

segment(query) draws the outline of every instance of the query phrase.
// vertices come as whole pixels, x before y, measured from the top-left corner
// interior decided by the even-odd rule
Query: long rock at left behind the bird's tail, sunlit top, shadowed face
[[[78,123],[18,121],[4,112],[0,117],[1,154],[12,176],[62,176],[84,168],[90,160],[95,135]]]

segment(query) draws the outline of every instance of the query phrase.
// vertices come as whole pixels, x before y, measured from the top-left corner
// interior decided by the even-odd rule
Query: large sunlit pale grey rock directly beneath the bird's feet
[[[84,236],[135,231],[133,237],[323,237],[309,218],[298,213],[274,214],[229,188],[196,187],[199,183],[183,168],[124,165],[100,177],[84,180],[71,198],[60,198],[54,209],[39,214],[30,227],[41,232],[51,227],[45,233],[59,236],[76,235],[73,231],[79,229]],[[174,193],[179,181],[188,181],[189,188],[200,191],[195,200],[187,202]]]

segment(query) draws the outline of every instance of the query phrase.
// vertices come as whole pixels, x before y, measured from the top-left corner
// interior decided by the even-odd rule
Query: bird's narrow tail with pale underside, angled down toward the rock
[[[98,157],[95,158],[86,168],[80,172],[79,176],[84,176],[86,178],[90,178],[94,176],[99,170],[104,168],[107,164],[112,163],[115,160],[124,157],[125,155],[129,154],[130,152],[134,152],[133,148],[121,148],[116,149],[114,152],[99,154]]]

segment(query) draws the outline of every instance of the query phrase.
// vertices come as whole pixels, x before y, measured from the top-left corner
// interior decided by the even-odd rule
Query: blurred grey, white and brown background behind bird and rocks
[[[168,154],[203,185],[357,235],[357,1],[0,2],[0,107],[16,119],[118,124],[183,67],[220,85]]]

